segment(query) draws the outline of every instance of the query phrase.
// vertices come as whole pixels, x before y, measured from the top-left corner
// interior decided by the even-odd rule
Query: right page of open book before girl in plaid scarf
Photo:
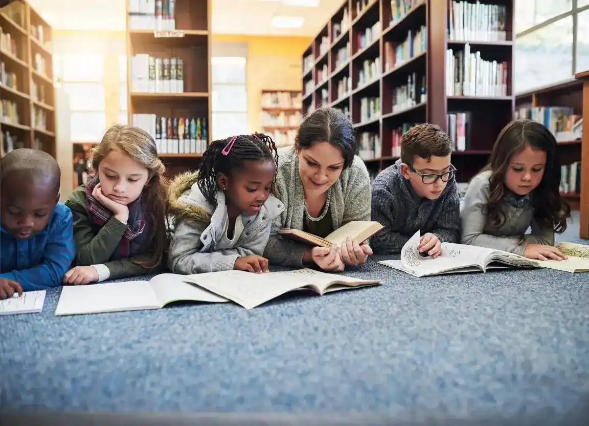
[[[211,274],[211,273],[209,273]],[[205,274],[194,274],[196,276],[203,276]],[[190,280],[187,280],[184,275],[178,274],[160,274],[150,280],[151,289],[153,289],[160,306],[165,306],[167,303],[178,302],[181,300],[191,300],[194,302],[229,302],[224,297],[211,293],[209,290],[196,286]]]

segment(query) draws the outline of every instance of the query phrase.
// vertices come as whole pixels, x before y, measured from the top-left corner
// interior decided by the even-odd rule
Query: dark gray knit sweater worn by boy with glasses
[[[460,201],[455,178],[438,199],[421,198],[401,174],[401,160],[384,169],[372,183],[372,220],[384,226],[370,239],[375,254],[401,253],[417,231],[431,232],[440,241],[460,239]]]

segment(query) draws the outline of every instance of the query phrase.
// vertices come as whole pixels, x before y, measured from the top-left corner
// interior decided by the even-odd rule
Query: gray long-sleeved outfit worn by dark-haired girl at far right
[[[534,220],[532,195],[515,197],[508,192],[503,200],[505,222],[492,228],[484,209],[489,195],[490,171],[479,173],[472,178],[466,189],[460,212],[462,225],[462,244],[494,248],[509,253],[523,255],[528,243],[554,245],[554,230],[541,228]],[[531,227],[531,233],[525,234]]]

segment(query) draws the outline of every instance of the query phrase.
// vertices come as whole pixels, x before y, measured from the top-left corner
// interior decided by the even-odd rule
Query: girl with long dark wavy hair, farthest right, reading
[[[550,130],[532,120],[507,124],[489,165],[466,190],[460,214],[462,243],[532,259],[566,258],[553,247],[554,232],[563,232],[571,216],[559,192],[560,171]]]

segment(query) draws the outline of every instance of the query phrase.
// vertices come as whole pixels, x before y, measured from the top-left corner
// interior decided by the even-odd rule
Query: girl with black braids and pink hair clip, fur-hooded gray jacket
[[[262,257],[272,221],[284,206],[270,194],[278,154],[261,133],[216,140],[198,172],[178,175],[168,191],[174,226],[168,266],[174,273],[268,271]]]

